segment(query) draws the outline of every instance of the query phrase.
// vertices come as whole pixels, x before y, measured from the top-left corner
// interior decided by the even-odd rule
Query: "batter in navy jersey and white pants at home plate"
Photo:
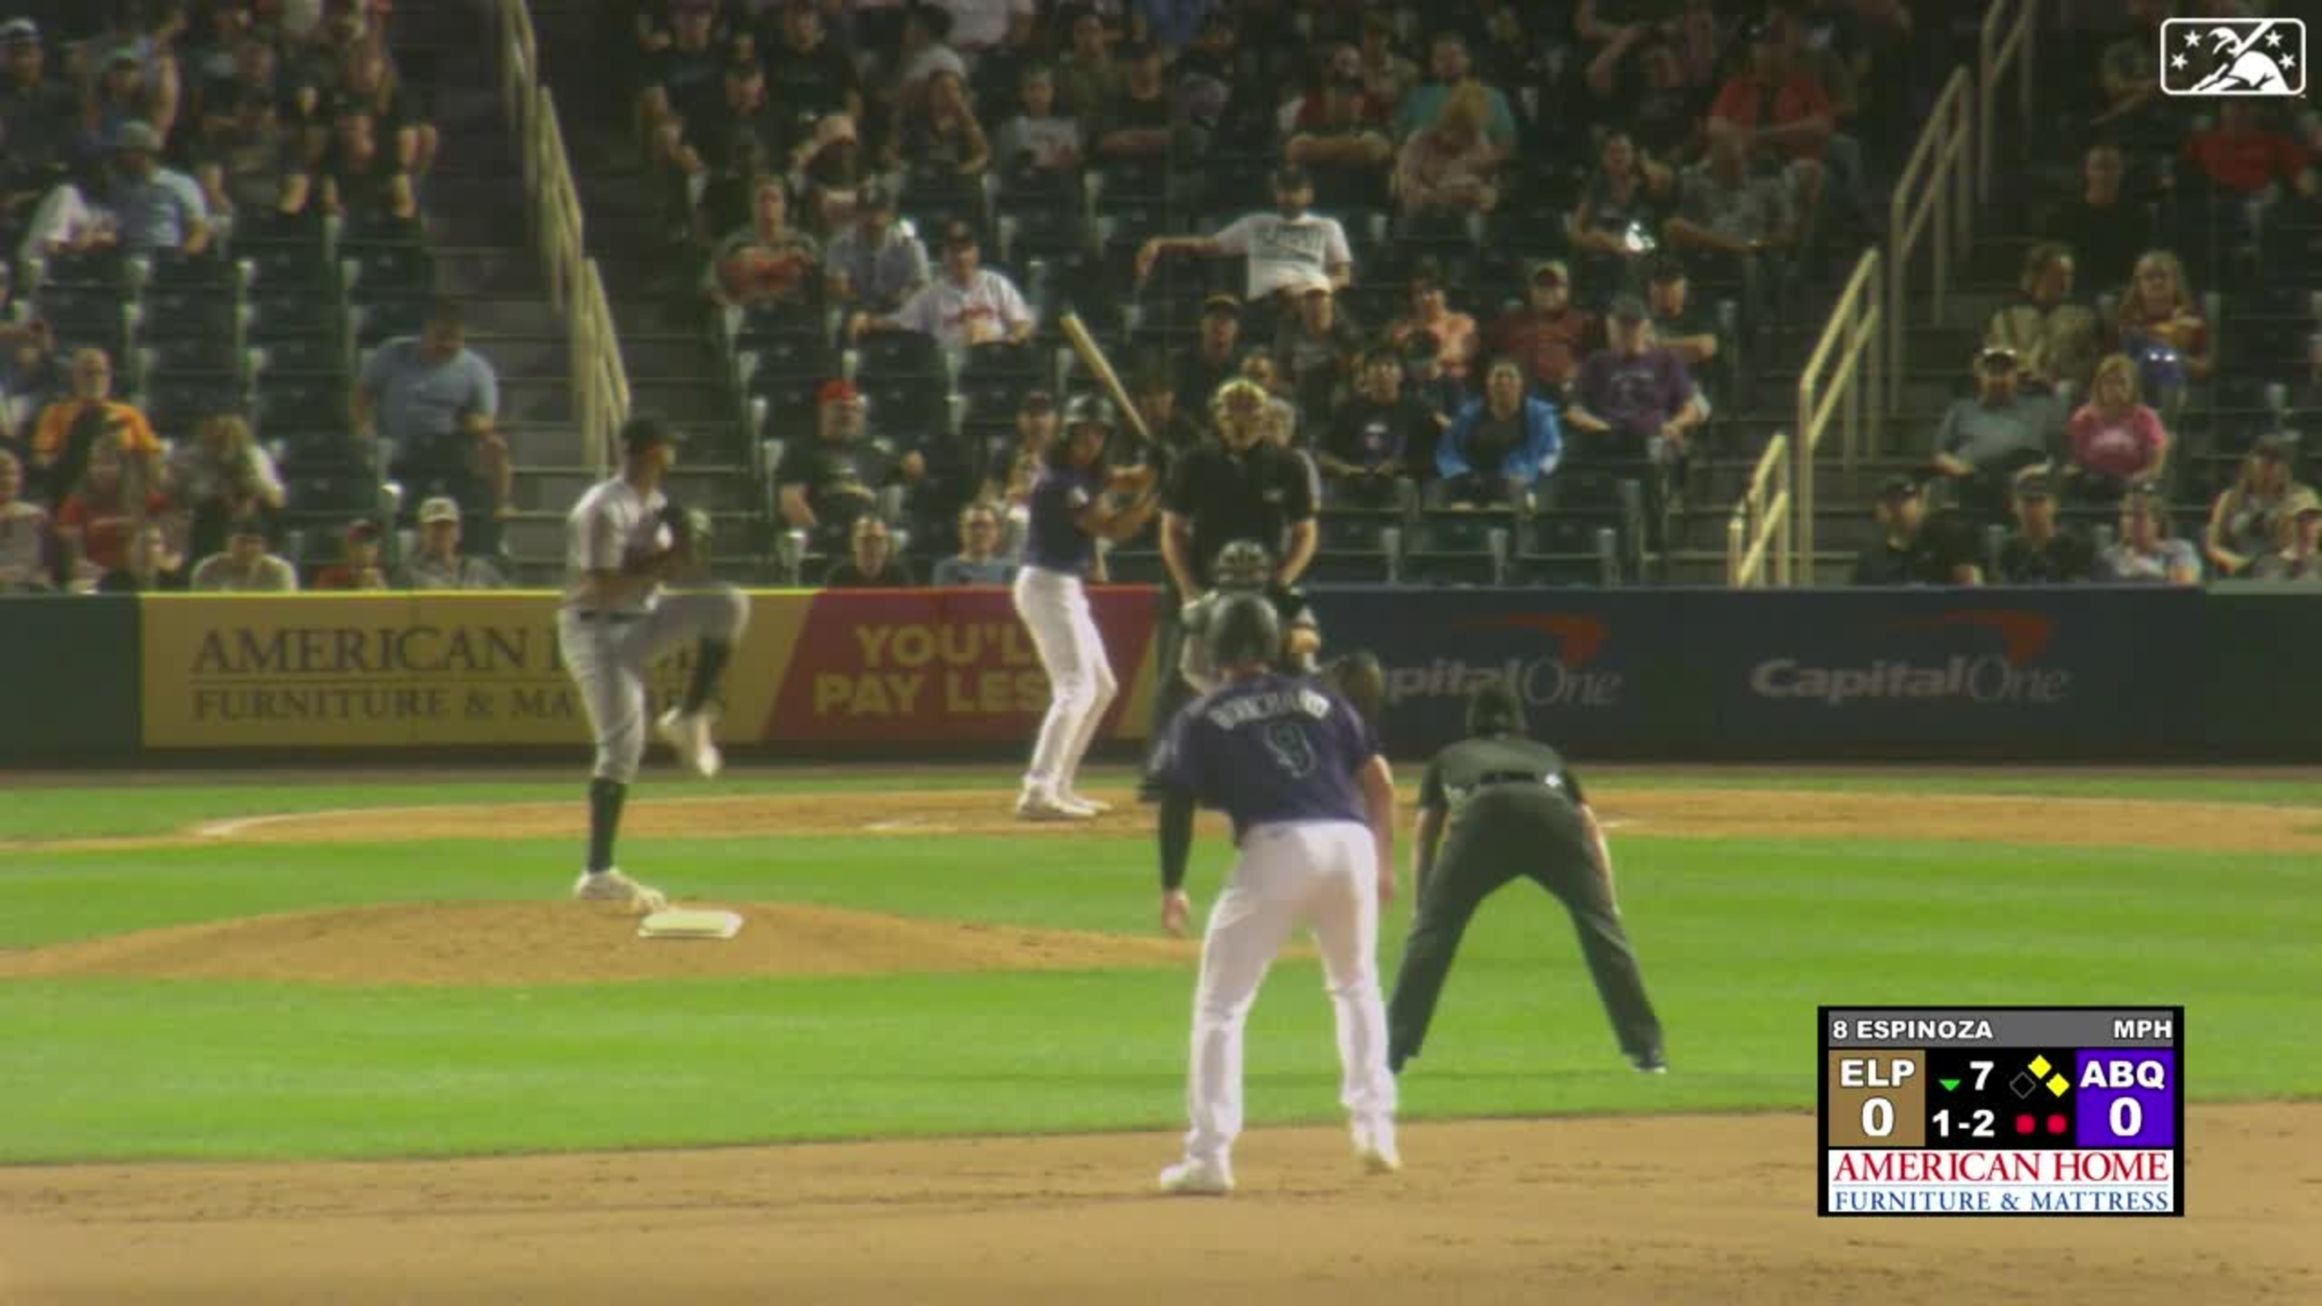
[[[1105,811],[1075,792],[1080,760],[1119,693],[1082,579],[1098,539],[1133,537],[1161,507],[1149,469],[1105,469],[1112,425],[1105,397],[1075,397],[1063,411],[1063,439],[1043,455],[1031,488],[1015,609],[1047,672],[1050,704],[1017,795],[1019,820],[1089,820]]]

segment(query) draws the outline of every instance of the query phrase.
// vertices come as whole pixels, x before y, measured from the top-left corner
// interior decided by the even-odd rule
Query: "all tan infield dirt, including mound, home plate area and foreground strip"
[[[1005,795],[641,802],[629,834],[1133,837]],[[2322,853],[2315,809],[1762,790],[1598,795],[1674,839],[1953,839]],[[146,844],[576,837],[578,804],[339,811]],[[51,844],[53,848],[56,844]],[[2287,860],[2287,857],[2285,857]],[[0,957],[12,976],[567,983],[1187,964],[1189,943],[734,904],[731,943],[643,943],[583,904],[404,904]],[[520,941],[520,943],[511,943]],[[1679,1067],[1683,1074],[1683,1067]],[[1653,1090],[1639,1081],[1639,1095]],[[1423,1097],[1423,1071],[1409,1088]],[[650,1111],[650,1102],[543,1102]],[[1259,1129],[1242,1192],[1166,1199],[1173,1136],[880,1141],[367,1164],[0,1167],[0,1304],[2322,1304],[2322,1104],[2194,1108],[2185,1220],[1816,1220],[1811,1115],[1416,1125],[1354,1174]]]

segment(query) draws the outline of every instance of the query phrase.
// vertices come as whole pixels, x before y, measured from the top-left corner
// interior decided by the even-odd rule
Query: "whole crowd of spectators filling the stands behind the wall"
[[[2266,304],[2299,330],[2264,339],[2218,318],[2313,265],[2276,242],[2322,225],[2322,125],[2299,105],[2190,112],[2152,58],[2164,19],[2241,9],[2108,0],[2076,19],[2104,26],[2078,44],[2094,65],[2048,42],[2041,112],[2076,179],[2034,195],[2041,239],[1964,360],[1974,393],[1890,435],[1925,465],[1881,490],[1858,579],[2315,574],[2317,451],[2294,418],[2322,409],[2322,309]],[[1711,497],[1700,453],[1755,453],[1732,418],[1774,337],[1811,335],[1811,290],[1883,232],[1883,184],[1981,19],[1944,0],[606,12],[669,258],[776,453],[776,553],[845,583],[1005,581],[1057,386],[1094,386],[1059,363],[1066,311],[1152,432],[1117,432],[1115,460],[1166,474],[1212,439],[1226,381],[1263,388],[1268,437],[1314,486],[1317,579],[1602,579],[1607,537],[1621,579],[1651,579],[1679,509]],[[441,142],[392,0],[0,0],[0,586],[167,586],[211,558],[235,586],[497,576],[515,469],[455,309],[369,314],[365,363],[283,404],[265,390],[297,332],[232,402],[172,367],[237,360],[156,335],[253,249],[423,225]],[[279,260],[255,265],[232,295],[262,297]],[[91,286],[128,286],[144,316],[91,311],[118,302]],[[279,421],[316,393],[348,411],[323,453]],[[392,479],[402,507],[313,502],[318,455]],[[286,530],[309,504],[316,530]],[[1163,579],[1154,539],[1112,572]]]

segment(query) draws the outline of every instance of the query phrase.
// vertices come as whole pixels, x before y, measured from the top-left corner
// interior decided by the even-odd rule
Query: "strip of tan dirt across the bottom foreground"
[[[1423,1092],[1416,1090],[1416,1092]],[[650,1108],[650,1104],[627,1104]],[[2322,1106],[2194,1108],[2183,1220],[1816,1220],[1807,1115],[0,1169],[12,1306],[2322,1301]]]

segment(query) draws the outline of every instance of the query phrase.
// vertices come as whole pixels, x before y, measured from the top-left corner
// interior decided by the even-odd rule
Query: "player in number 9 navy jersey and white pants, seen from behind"
[[[1233,1192],[1242,1132],[1242,1022],[1265,967],[1298,925],[1314,927],[1337,1013],[1340,1104],[1354,1155],[1372,1174],[1396,1155],[1396,1078],[1379,1002],[1379,904],[1396,897],[1396,783],[1379,741],[1326,683],[1270,669],[1275,609],[1233,595],[1210,627],[1226,686],[1194,699],[1161,744],[1161,927],[1182,934],[1194,806],[1233,818],[1240,855],[1210,909],[1194,990],[1184,1160],[1163,1192]]]

